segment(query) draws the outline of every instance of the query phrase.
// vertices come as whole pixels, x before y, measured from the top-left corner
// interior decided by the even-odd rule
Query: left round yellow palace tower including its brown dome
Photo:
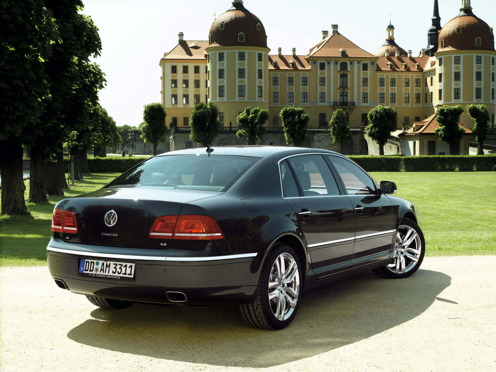
[[[215,19],[208,35],[209,101],[219,107],[224,125],[246,107],[268,109],[267,36],[262,22],[242,0]]]

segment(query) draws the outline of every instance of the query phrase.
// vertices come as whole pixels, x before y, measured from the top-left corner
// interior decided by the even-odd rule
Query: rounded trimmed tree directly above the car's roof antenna
[[[219,108],[212,102],[196,104],[191,112],[189,126],[189,138],[192,141],[205,147],[211,145],[220,130]]]

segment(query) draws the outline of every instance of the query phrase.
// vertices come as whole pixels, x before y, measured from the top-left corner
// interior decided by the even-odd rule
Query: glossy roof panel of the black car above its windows
[[[213,149],[211,155],[253,156],[259,158],[264,158],[276,154],[278,154],[278,156],[280,157],[285,157],[293,154],[302,154],[309,152],[341,155],[334,151],[308,148],[308,147],[246,145],[246,146],[211,146],[210,148]],[[196,154],[206,155],[207,154],[206,147],[196,147],[186,150],[169,151],[169,152],[164,152],[163,154],[159,154],[157,156],[196,155]]]

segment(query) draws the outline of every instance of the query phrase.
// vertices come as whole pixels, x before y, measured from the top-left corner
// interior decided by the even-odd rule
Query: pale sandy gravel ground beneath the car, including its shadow
[[[305,293],[281,331],[234,307],[95,308],[47,267],[0,269],[1,371],[496,371],[496,256],[426,257]]]

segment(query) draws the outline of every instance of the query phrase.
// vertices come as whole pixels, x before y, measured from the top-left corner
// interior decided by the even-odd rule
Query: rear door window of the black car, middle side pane
[[[288,159],[304,196],[339,195],[329,166],[321,155],[301,155]]]

